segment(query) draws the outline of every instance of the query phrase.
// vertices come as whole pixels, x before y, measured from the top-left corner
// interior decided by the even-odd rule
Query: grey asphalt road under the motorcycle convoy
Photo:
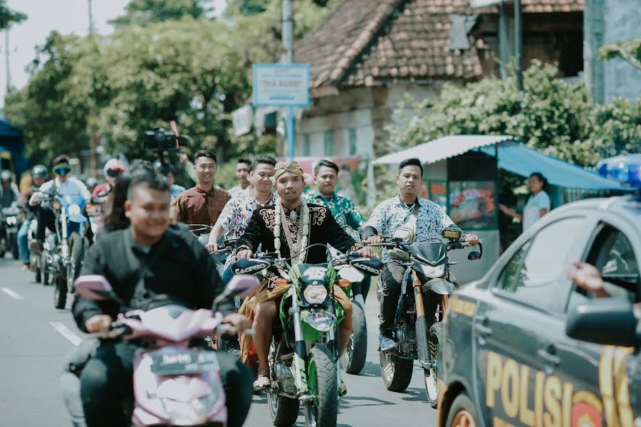
[[[345,374],[348,394],[340,401],[338,425],[434,426],[436,411],[425,401],[422,371],[415,368],[405,393],[385,390],[377,347],[377,302],[367,302],[368,363],[360,375]],[[65,336],[67,335],[67,337]],[[78,342],[68,310],[53,308],[53,290],[35,283],[20,264],[0,259],[0,426],[68,427],[71,422],[58,393],[61,358]],[[297,426],[303,426],[303,416]],[[271,426],[264,396],[254,396],[245,426]]]

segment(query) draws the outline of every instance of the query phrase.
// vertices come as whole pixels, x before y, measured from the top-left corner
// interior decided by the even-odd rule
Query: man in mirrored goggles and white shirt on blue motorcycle
[[[83,199],[87,203],[91,200],[91,193],[87,189],[87,186],[83,184],[83,181],[80,179],[75,179],[73,176],[69,176],[71,173],[71,167],[69,166],[69,158],[61,154],[60,156],[53,159],[53,173],[56,175],[51,181],[47,181],[40,187],[40,191],[33,193],[31,199],[29,199],[29,204],[31,206],[37,206],[42,200],[42,194],[52,191],[53,187],[58,191],[58,194],[61,196],[71,196],[79,195],[83,196]],[[56,231],[56,215],[53,213],[51,206],[40,206],[38,209],[38,231],[36,232],[36,241],[38,241],[38,248],[31,248],[32,251],[42,250],[42,243],[45,237],[45,230],[48,227],[51,231]],[[87,227],[88,238],[91,241],[93,236],[90,236],[91,228]]]

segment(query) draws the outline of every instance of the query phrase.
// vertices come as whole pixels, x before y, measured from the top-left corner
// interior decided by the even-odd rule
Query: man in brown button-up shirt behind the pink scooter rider
[[[225,204],[231,199],[227,191],[214,188],[217,158],[214,152],[201,149],[194,155],[198,184],[179,194],[172,202],[172,221],[214,226]],[[195,231],[197,236],[204,231]]]

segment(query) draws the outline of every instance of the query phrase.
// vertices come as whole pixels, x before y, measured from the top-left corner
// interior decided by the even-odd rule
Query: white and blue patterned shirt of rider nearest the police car
[[[454,221],[447,216],[441,206],[428,199],[417,198],[420,205],[416,218],[416,240],[421,242],[428,238],[440,238],[443,229],[454,224]],[[397,228],[410,221],[410,216],[414,211],[414,206],[407,206],[400,199],[400,196],[392,197],[376,206],[372,216],[365,223],[365,227],[376,228],[380,236],[392,236]],[[389,263],[392,260],[387,254],[387,249],[383,249],[382,262]],[[398,262],[397,260],[394,260]]]

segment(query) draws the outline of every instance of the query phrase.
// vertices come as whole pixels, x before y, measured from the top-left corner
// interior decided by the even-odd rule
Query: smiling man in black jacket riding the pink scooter
[[[152,297],[165,297],[189,308],[212,307],[224,290],[207,251],[184,231],[170,228],[170,189],[159,176],[132,178],[125,215],[130,227],[105,234],[87,253],[83,275],[102,275],[126,307],[113,301],[76,297],[73,316],[85,332],[109,330],[119,312],[143,308]],[[243,328],[246,317],[222,302],[224,321]],[[103,340],[80,375],[87,425],[127,426],[137,344]],[[251,404],[251,374],[229,354],[217,355],[226,391],[228,426],[239,427]],[[125,410],[123,411],[123,404]]]

